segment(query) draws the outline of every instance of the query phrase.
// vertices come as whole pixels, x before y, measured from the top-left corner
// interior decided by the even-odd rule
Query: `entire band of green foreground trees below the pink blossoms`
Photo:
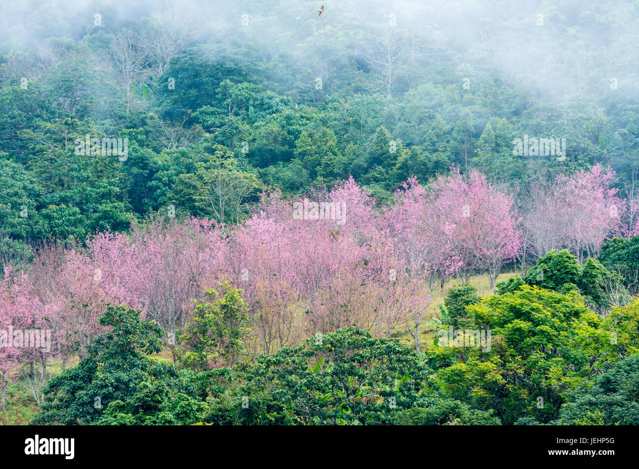
[[[463,327],[491,330],[486,351],[435,346],[424,356],[349,328],[236,362],[246,307],[240,290],[220,287],[184,336],[183,364],[194,371],[147,357],[160,350],[160,329],[109,306],[109,329],[47,383],[35,423],[614,424],[639,415],[637,301],[599,318],[575,292],[524,286],[477,303],[459,288],[456,298],[473,299]],[[222,357],[233,368],[210,369]],[[437,364],[434,381],[427,362]]]

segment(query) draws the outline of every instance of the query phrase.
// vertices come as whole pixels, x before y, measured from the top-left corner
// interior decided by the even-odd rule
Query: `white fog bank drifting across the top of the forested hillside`
[[[2,6],[0,51],[45,54],[52,38],[101,40],[121,28],[155,24],[186,33],[180,48],[215,45],[200,52],[212,60],[232,63],[224,45],[233,43],[256,51],[238,61],[289,56],[306,64],[309,76],[330,75],[353,63],[367,71],[362,57],[390,28],[405,42],[397,64],[440,67],[444,84],[465,77],[504,81],[521,93],[564,101],[600,94],[613,78],[620,94],[636,96],[637,8],[579,0],[9,0]],[[279,86],[286,93],[285,80]],[[399,84],[392,94],[408,88]]]

